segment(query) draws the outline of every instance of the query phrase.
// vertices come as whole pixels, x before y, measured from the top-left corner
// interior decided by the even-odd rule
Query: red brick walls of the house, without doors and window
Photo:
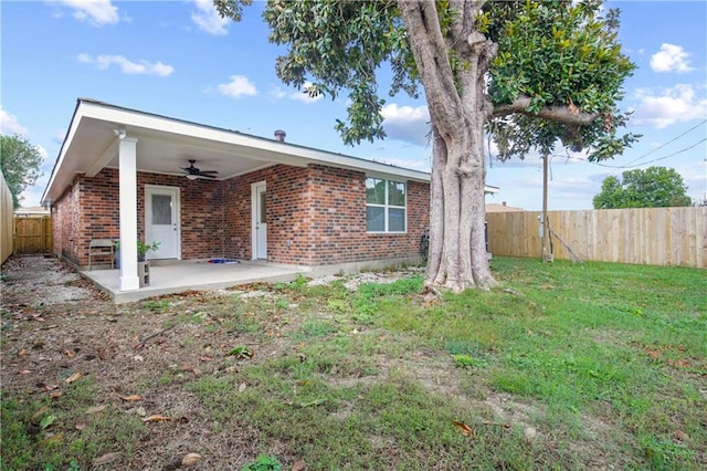
[[[428,227],[429,185],[408,182],[408,233],[366,233],[366,175],[312,165],[276,165],[226,181],[138,172],[138,232],[145,234],[145,186],[180,188],[181,258],[251,259],[251,185],[267,187],[267,260],[324,265],[418,254]],[[77,177],[55,205],[55,252],[87,264],[88,241],[119,238],[118,170]]]

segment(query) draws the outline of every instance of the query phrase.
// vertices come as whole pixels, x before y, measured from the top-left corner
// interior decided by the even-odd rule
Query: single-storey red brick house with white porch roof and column
[[[193,163],[190,163],[193,160]],[[204,174],[189,170],[198,168]],[[193,175],[192,175],[193,174]],[[120,240],[120,290],[149,259],[234,258],[345,270],[416,260],[430,175],[80,98],[42,197],[53,252],[85,266]]]

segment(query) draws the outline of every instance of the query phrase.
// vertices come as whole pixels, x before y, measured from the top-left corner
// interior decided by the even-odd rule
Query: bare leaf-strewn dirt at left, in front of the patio
[[[356,290],[361,282],[394,280],[400,274],[363,273],[348,278],[346,287]],[[253,362],[294,354],[293,342],[282,338],[285,329],[295,328],[292,320],[281,322],[273,316],[264,328],[264,343],[262,324],[258,335],[209,328],[221,320],[212,311],[200,310],[208,299],[247,299],[267,296],[267,292],[258,286],[188,292],[169,296],[168,310],[152,310],[149,301],[116,305],[76,272],[46,257],[9,259],[2,266],[1,289],[3,398],[39,402],[51,397],[59,401],[80,381],[89,381],[95,386],[93,404],[75,410],[76,429],[85,427],[93,415],[156,418],[148,422],[147,432],[136,437],[129,453],[106,453],[112,450],[108,446],[96,453],[94,467],[179,469],[184,457],[198,450],[198,469],[238,470],[258,454],[258,438],[253,431],[220,431],[211,411],[181,385],[207,375],[238,374],[243,362],[228,355],[233,345],[257,349]],[[207,317],[205,323],[172,322],[200,315]],[[384,373],[389,366],[380,367]],[[423,365],[418,368],[423,371]],[[435,377],[441,374],[437,370]],[[171,379],[160,380],[166,375]],[[430,381],[430,387],[436,386]],[[136,390],[141,393],[139,399]],[[159,417],[168,417],[169,422]],[[51,431],[45,435],[52,439]],[[284,444],[271,451],[287,458]],[[296,462],[297,457],[291,459]]]

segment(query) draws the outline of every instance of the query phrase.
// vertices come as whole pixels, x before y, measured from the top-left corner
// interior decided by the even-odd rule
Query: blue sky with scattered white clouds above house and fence
[[[629,129],[643,138],[604,166],[557,149],[549,209],[591,209],[606,176],[651,165],[675,168],[688,195],[705,198],[707,2],[608,6],[621,9],[619,39],[637,65],[620,106],[635,111]],[[263,7],[255,2],[232,23],[211,1],[1,1],[0,130],[23,135],[45,156],[24,206],[39,205],[78,97],[263,137],[285,129],[289,143],[429,170],[424,100],[386,96],[389,137],[345,146],[334,125],[346,117],[346,98],[312,101],[279,82],[274,64],[284,50],[267,42]],[[487,184],[500,188],[489,202],[541,208],[537,155],[489,163]]]

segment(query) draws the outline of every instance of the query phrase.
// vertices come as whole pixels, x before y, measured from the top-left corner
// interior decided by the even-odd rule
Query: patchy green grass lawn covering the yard
[[[166,371],[139,393],[196,398],[191,426],[250,443],[253,470],[707,468],[707,272],[507,258],[492,269],[498,289],[434,302],[413,276],[136,304],[231,342],[213,354],[221,368]],[[40,439],[42,404],[61,422],[101,394],[87,381],[51,404],[3,396],[2,469],[89,469],[110,438],[129,458],[146,426],[128,416],[88,418],[93,435],[64,430],[61,449]]]

